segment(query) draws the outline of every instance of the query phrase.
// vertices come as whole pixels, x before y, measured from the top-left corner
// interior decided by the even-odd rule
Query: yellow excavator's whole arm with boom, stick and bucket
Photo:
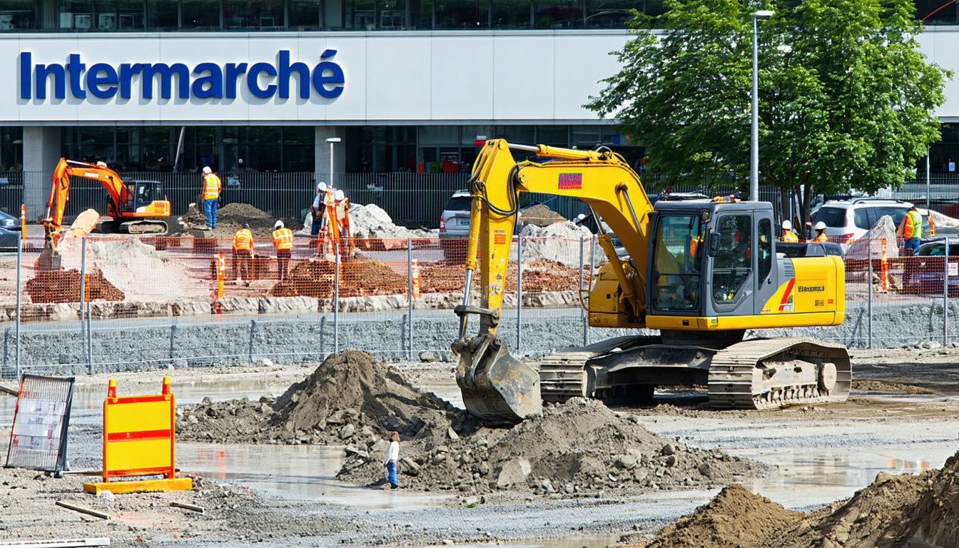
[[[517,163],[510,149],[535,153],[543,162]],[[541,411],[539,377],[514,359],[496,336],[503,307],[506,267],[519,213],[519,193],[571,196],[587,203],[620,238],[630,259],[620,259],[612,237],[600,233],[599,245],[620,282],[618,296],[633,322],[643,323],[645,272],[652,204],[628,164],[611,151],[577,151],[545,145],[487,141],[470,179],[473,197],[466,252],[463,304],[456,307],[460,355],[456,382],[467,409],[486,424],[510,424]],[[601,226],[601,225],[600,225]],[[479,265],[477,255],[479,252]],[[470,304],[473,273],[479,266],[478,305]],[[479,335],[467,338],[467,319],[479,316]]]

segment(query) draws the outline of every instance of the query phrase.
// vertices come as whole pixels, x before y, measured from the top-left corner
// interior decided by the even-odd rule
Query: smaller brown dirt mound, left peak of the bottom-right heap
[[[792,512],[738,484],[719,491],[709,504],[663,529],[650,548],[737,548],[762,545],[790,529],[804,512]]]

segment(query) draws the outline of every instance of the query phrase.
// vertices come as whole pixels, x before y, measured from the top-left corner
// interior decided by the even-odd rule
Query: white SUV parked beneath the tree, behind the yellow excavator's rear
[[[826,236],[831,242],[846,244],[859,239],[884,215],[893,218],[898,227],[905,212],[912,203],[901,200],[877,198],[853,198],[851,200],[831,200],[824,203],[813,215],[812,223],[826,223]],[[935,234],[935,226],[929,224],[929,212],[918,209],[923,216],[923,236]]]

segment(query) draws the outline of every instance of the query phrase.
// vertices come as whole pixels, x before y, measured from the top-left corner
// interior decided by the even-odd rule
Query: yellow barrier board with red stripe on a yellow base
[[[176,398],[170,377],[158,394],[117,396],[110,379],[104,400],[104,481],[83,490],[113,493],[193,488],[190,478],[176,477]],[[111,477],[163,474],[162,480],[110,482]]]

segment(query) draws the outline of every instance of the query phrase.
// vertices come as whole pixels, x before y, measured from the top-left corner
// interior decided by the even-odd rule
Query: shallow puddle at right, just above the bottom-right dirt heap
[[[786,508],[807,509],[853,496],[872,484],[879,472],[918,474],[939,468],[955,453],[955,447],[928,442],[877,447],[764,447],[730,453],[778,465],[775,477],[751,480],[747,486]]]

